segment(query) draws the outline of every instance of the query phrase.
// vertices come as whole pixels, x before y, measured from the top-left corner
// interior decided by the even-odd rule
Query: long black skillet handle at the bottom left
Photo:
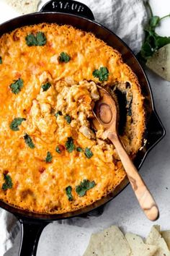
[[[19,219],[19,222],[22,231],[19,256],[35,256],[40,234],[49,222],[35,222],[27,219]]]

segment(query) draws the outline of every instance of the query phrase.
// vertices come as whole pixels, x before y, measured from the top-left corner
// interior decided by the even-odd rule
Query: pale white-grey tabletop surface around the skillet
[[[4,5],[1,1],[0,22],[17,15],[11,9],[10,12],[2,12]],[[170,12],[169,0],[151,0],[151,6],[154,14],[160,16]],[[164,20],[158,32],[162,35],[170,35],[169,27],[170,19]],[[140,174],[151,189],[160,209],[160,218],[156,224],[161,225],[162,229],[170,229],[170,82],[162,80],[148,70],[146,72],[151,82],[156,110],[166,128],[166,137],[149,153],[140,169]],[[76,223],[79,226],[79,218],[76,219]],[[91,231],[111,225],[120,226],[124,231],[132,231],[141,236],[146,236],[153,225],[140,210],[130,186],[109,202],[102,216],[84,220],[81,228],[60,225],[57,222],[48,225],[40,237],[37,256],[81,256]],[[6,252],[6,256],[17,256],[19,239],[20,234],[14,247]]]

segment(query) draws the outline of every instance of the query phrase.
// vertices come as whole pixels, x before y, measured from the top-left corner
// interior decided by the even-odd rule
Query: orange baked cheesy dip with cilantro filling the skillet
[[[0,200],[66,213],[101,199],[125,178],[102,127],[91,126],[97,85],[117,95],[120,139],[142,145],[143,96],[121,55],[71,26],[21,27],[0,38]]]

